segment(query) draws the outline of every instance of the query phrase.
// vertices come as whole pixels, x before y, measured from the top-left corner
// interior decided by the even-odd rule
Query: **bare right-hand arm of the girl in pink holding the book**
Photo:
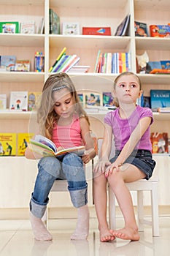
[[[83,143],[85,144],[85,154],[82,156],[82,161],[87,164],[90,159],[96,157],[96,149],[94,148],[93,138],[90,135],[90,127],[88,121],[80,118],[80,127]]]

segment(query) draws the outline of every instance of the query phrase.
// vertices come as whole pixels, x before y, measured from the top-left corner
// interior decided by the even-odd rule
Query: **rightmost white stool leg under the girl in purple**
[[[152,184],[151,203],[152,203],[152,236],[159,236],[159,216],[158,216],[158,194],[157,184]]]

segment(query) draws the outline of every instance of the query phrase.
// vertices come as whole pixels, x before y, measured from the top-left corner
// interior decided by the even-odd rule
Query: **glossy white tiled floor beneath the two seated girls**
[[[101,243],[96,219],[90,219],[88,241],[71,241],[75,219],[50,220],[53,241],[35,241],[28,220],[0,220],[0,255],[2,256],[169,256],[170,217],[160,217],[160,237],[152,237],[151,227],[145,227],[140,241],[117,239]],[[120,220],[120,224],[122,221]],[[119,225],[120,225],[119,224]]]

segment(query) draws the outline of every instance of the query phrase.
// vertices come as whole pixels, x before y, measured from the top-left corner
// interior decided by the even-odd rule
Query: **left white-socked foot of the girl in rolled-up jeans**
[[[30,213],[30,221],[34,237],[36,240],[50,241],[53,239],[53,237],[45,227],[44,223],[42,222],[42,219],[39,219]]]

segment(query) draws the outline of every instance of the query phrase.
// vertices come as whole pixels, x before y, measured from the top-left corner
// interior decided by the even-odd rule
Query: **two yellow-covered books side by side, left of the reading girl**
[[[34,133],[0,133],[0,157],[24,156]]]

